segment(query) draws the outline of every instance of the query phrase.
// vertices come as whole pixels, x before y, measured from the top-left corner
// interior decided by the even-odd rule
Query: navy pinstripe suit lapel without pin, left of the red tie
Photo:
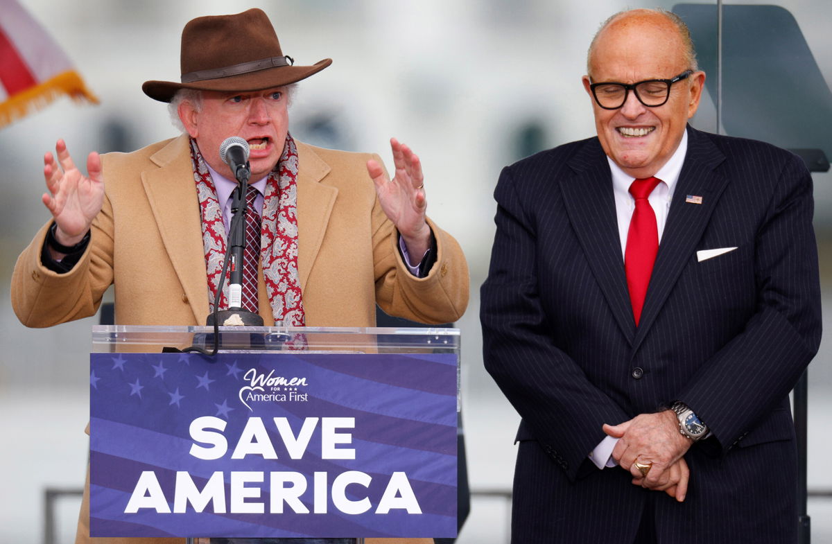
[[[561,184],[569,220],[618,326],[632,342],[635,331],[618,236],[612,175],[597,139],[588,141],[577,151],[569,166],[576,176]]]

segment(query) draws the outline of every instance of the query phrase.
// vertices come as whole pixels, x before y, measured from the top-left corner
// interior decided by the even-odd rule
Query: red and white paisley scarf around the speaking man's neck
[[[208,166],[192,138],[191,162],[202,218],[202,244],[205,248],[208,273],[208,304],[213,312],[216,287],[220,282],[222,260],[225,256],[225,225],[222,222],[222,210],[216,198],[214,181],[211,180]],[[263,223],[260,228],[260,264],[263,268],[266,292],[269,294],[271,312],[275,318],[275,325],[285,327],[305,325],[298,274],[297,176],[298,151],[295,140],[287,133],[283,155],[266,181]],[[228,304],[228,282],[229,278],[226,277],[220,309],[224,309]]]

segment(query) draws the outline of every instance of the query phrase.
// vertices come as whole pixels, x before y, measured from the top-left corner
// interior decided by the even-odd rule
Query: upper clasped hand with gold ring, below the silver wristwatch
[[[642,413],[619,425],[605,424],[603,429],[612,438],[619,438],[612,457],[633,477],[641,477],[634,462],[651,464],[641,484],[651,489],[661,487],[661,482],[666,480],[664,472],[693,444],[690,438],[679,433],[679,420],[672,410]]]

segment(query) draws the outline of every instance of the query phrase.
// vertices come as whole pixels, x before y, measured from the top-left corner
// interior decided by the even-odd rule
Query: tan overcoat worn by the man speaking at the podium
[[[375,304],[427,324],[456,321],[468,304],[468,265],[452,236],[428,220],[438,246],[428,275],[404,267],[398,235],[384,215],[366,162],[378,156],[297,142],[298,270],[306,324],[367,327]],[[201,325],[208,315],[201,216],[187,136],[129,154],[102,156],[106,196],[90,245],[66,274],[41,263],[49,224],[17,260],[12,307],[29,327],[95,314],[115,284],[116,324]],[[260,314],[273,325],[260,271]],[[77,542],[89,535],[85,492]],[[144,539],[106,539],[138,544]],[[147,539],[181,544],[182,539]],[[370,542],[429,540],[368,539]]]

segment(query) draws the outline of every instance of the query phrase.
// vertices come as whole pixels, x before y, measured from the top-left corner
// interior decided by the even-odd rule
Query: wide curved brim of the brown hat
[[[217,77],[201,82],[144,82],[141,90],[153,100],[170,102],[176,91],[180,89],[196,89],[199,91],[247,92],[262,91],[272,87],[283,87],[291,83],[300,82],[316,74],[332,64],[331,58],[315,62],[312,66],[285,66],[266,68],[256,72],[247,72],[237,76]]]

